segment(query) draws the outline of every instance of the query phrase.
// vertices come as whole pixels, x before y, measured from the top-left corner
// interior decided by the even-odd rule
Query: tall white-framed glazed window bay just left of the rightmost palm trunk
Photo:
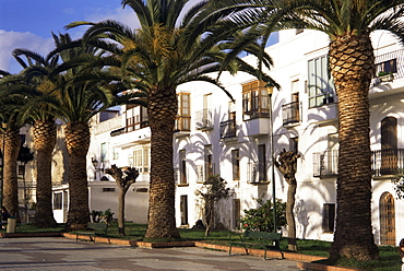
[[[328,57],[309,61],[309,107],[318,107],[335,102],[335,90],[329,73]]]

